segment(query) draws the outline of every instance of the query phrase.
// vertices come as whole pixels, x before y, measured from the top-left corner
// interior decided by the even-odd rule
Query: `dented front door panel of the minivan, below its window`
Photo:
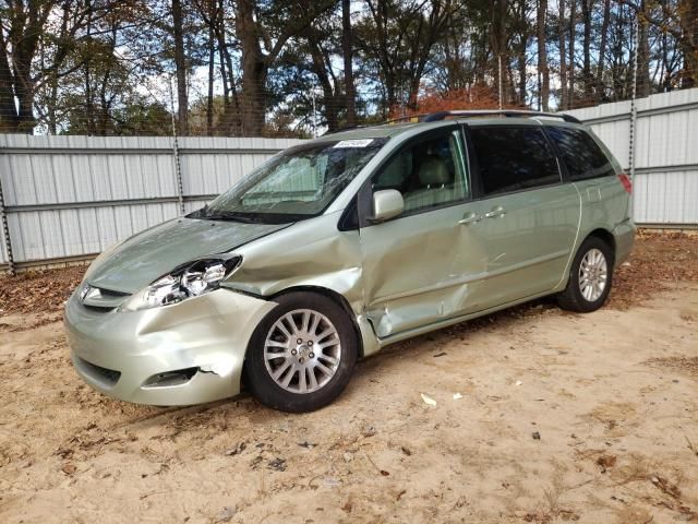
[[[486,258],[462,224],[472,203],[363,227],[366,317],[378,337],[457,317],[482,293]]]

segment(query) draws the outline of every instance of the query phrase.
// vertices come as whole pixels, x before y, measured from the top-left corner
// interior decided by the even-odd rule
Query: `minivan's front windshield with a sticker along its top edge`
[[[320,215],[386,140],[342,140],[291,147],[189,216],[285,224]]]

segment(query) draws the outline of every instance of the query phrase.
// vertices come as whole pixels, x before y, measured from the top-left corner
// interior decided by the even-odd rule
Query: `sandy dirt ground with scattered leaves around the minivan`
[[[698,522],[698,237],[640,236],[598,312],[387,348],[306,415],[94,392],[59,322],[82,271],[0,278],[2,523]]]

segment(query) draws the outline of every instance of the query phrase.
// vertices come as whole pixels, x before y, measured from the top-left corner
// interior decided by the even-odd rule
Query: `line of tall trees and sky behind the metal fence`
[[[698,0],[0,0],[0,131],[298,135],[570,109],[698,85],[697,19]]]

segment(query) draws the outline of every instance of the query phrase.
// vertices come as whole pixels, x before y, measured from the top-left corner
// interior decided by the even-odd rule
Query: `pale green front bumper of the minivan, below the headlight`
[[[141,311],[91,308],[77,294],[65,331],[77,374],[122,401],[192,405],[237,395],[248,343],[275,302],[220,288]]]

